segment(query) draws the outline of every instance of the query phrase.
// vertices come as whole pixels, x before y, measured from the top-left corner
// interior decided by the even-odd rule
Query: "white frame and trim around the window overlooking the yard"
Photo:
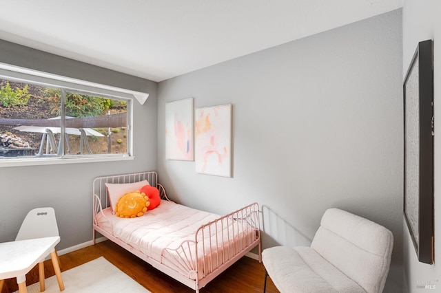
[[[133,105],[135,100],[141,105],[147,100],[149,94],[141,91],[133,91],[130,89],[122,89],[99,83],[92,83],[86,80],[68,78],[65,76],[57,76],[45,72],[38,72],[32,69],[17,67],[0,63],[0,78],[5,80],[19,80],[23,83],[34,83],[45,87],[57,87],[66,91],[80,91],[96,96],[112,96],[123,100],[130,100],[130,107],[127,107],[127,115],[129,119],[130,131],[129,140],[127,141],[127,153],[125,154],[100,154],[100,155],[64,155],[48,158],[8,158],[0,159],[0,168],[8,166],[32,166],[32,165],[48,165],[48,164],[71,164],[71,163],[91,163],[91,162],[110,162],[121,160],[133,160]]]

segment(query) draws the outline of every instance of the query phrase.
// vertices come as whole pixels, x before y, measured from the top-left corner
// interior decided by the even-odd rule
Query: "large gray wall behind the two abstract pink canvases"
[[[263,246],[309,244],[327,208],[389,228],[402,288],[402,13],[382,14],[159,83],[158,172],[172,199],[258,202]],[[232,44],[234,45],[234,44]],[[165,102],[233,105],[232,178],[165,160]]]

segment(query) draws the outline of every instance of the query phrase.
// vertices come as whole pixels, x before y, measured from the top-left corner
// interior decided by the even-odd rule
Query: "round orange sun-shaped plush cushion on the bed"
[[[116,203],[115,214],[121,218],[141,217],[150,206],[149,198],[139,191],[125,193]]]

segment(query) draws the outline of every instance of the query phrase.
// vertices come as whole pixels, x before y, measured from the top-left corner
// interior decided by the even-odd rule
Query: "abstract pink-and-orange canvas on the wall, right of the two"
[[[232,105],[196,109],[194,129],[196,172],[232,177]]]

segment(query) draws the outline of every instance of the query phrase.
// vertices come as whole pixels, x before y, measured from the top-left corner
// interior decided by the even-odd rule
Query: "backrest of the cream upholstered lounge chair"
[[[382,292],[393,248],[393,235],[387,228],[330,208],[322,217],[311,248],[366,292]]]

